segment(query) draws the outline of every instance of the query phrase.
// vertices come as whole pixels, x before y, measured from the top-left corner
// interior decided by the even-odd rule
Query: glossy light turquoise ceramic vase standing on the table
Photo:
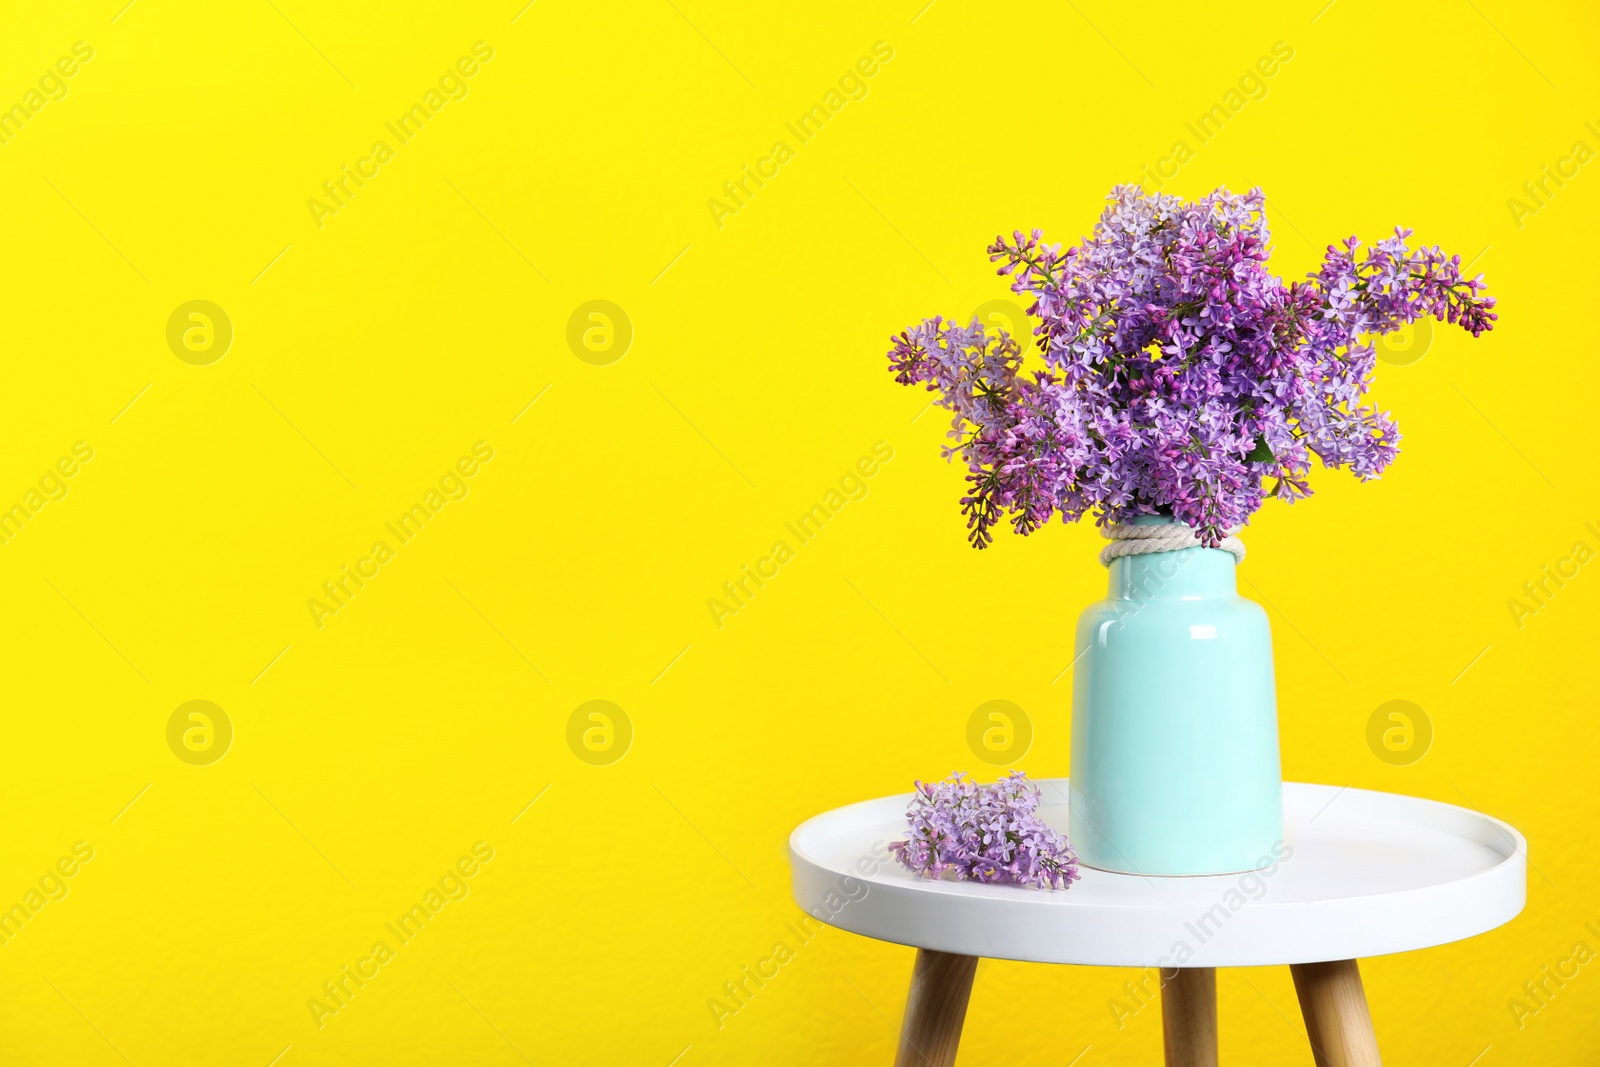
[[[1078,617],[1067,832],[1090,867],[1221,875],[1274,862],[1272,632],[1234,566],[1198,544],[1122,557],[1106,600]]]

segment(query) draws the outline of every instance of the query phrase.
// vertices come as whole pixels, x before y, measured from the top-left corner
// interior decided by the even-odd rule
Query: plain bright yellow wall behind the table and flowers
[[[1592,1062],[1600,966],[1509,1006],[1600,950],[1600,573],[1509,606],[1600,549],[1592,8],[123,3],[8,5],[0,35],[0,104],[93,50],[0,144],[0,504],[27,515],[0,545],[0,905],[38,902],[0,945],[0,1064],[890,1062],[910,950],[827,931],[720,1029],[707,1000],[797,913],[797,822],[1000,773],[968,749],[979,704],[1016,702],[1018,763],[1066,773],[1061,672],[1104,573],[1090,528],[965,545],[886,338],[1008,298],[997,232],[1070,242],[1178,141],[1163,187],[1259,184],[1285,277],[1406,224],[1501,298],[1485,339],[1390,354],[1400,462],[1269,504],[1243,592],[1288,777],[1530,840],[1517,921],[1366,965],[1387,1062]],[[477,42],[466,94],[390,134]],[[802,144],[786,123],[878,42]],[[779,139],[765,187],[707,206]],[[198,320],[168,344],[197,299],[221,358],[182,347]],[[626,354],[584,349],[587,318],[570,347],[595,299]],[[717,625],[707,600],[878,442],[866,496]],[[430,490],[402,544],[386,523]],[[347,565],[376,576],[336,605]],[[1434,733],[1402,765],[1366,742],[1394,699]],[[219,709],[192,747],[189,701]],[[584,747],[602,720],[568,744],[589,701],[622,709],[610,750]],[[346,966],[376,974],[318,1017]],[[1154,1062],[1158,1011],[1109,1005],[1138,977],[984,963],[963,1062]],[[1224,1057],[1309,1062],[1286,971],[1219,982]]]

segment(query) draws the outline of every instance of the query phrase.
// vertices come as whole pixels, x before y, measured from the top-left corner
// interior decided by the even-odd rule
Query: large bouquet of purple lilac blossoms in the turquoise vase
[[[989,258],[1029,298],[1043,366],[976,318],[930,318],[890,350],[894,381],[926,382],[955,416],[946,456],[966,462],[968,541],[986,547],[1006,512],[1019,534],[1094,512],[1171,515],[1218,545],[1266,496],[1309,496],[1312,454],[1376,478],[1400,432],[1362,403],[1373,338],[1422,315],[1472,336],[1496,320],[1483,275],[1410,235],[1360,259],[1354,237],[1330,245],[1285,285],[1266,266],[1259,189],[1186,203],[1118,186],[1075,248],[997,238]]]

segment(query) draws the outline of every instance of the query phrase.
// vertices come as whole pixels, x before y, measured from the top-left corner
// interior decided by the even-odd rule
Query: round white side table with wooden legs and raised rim
[[[1067,781],[1040,814],[1067,825]],[[1317,1067],[1378,1067],[1357,960],[1472,937],[1526,896],[1526,841],[1466,808],[1285,782],[1285,841],[1253,873],[1165,878],[1083,869],[1043,891],[918,878],[886,853],[910,793],[803,822],[795,902],[818,921],[918,949],[898,1067],[949,1067],[978,957],[1162,968],[1168,1067],[1216,1064],[1216,968],[1288,965]],[[1274,859],[1269,856],[1267,859]]]

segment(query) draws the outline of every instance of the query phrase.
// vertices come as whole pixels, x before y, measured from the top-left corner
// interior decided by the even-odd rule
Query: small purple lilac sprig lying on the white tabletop
[[[890,851],[909,870],[958,880],[1064,889],[1078,878],[1072,845],[1038,817],[1038,787],[1022,771],[979,785],[965,774],[917,782],[910,830]]]

